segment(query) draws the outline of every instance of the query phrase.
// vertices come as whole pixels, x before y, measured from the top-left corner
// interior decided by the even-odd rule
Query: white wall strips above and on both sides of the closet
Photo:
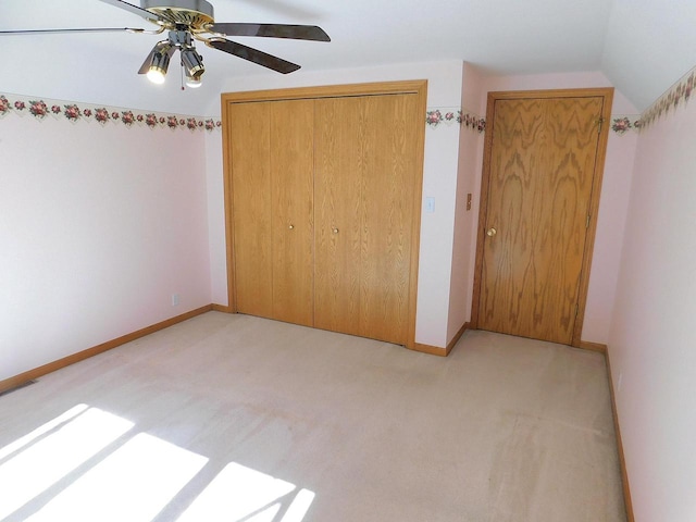
[[[461,103],[462,62],[446,61],[385,65],[353,70],[335,70],[321,73],[299,71],[293,75],[250,76],[229,80],[224,92],[304,87],[318,85],[340,85],[400,79],[427,79],[427,105],[451,108]],[[220,113],[219,100],[210,112]],[[425,115],[423,115],[425,125]],[[425,136],[425,163],[423,173],[423,197],[435,198],[435,212],[422,213],[421,247],[419,260],[419,289],[415,341],[445,347],[447,345],[447,321],[449,310],[449,288],[452,260],[452,238],[455,226],[455,204],[457,189],[457,162],[459,126],[428,128]],[[222,191],[222,170],[215,158],[222,156],[221,144],[210,142],[207,149],[211,169],[208,173],[211,190],[209,213],[212,219],[224,223],[224,195]],[[424,209],[423,209],[424,210]],[[212,231],[212,228],[211,228]],[[224,229],[213,231],[211,237],[212,293],[217,303],[227,304],[226,274],[220,266],[224,263]]]

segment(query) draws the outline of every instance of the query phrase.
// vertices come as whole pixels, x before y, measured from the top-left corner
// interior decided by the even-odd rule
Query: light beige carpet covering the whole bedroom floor
[[[0,520],[623,521],[605,360],[210,312],[0,397]]]

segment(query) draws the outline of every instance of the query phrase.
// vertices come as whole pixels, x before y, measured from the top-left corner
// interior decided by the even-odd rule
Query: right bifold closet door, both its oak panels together
[[[315,326],[407,343],[420,125],[415,95],[316,101]]]

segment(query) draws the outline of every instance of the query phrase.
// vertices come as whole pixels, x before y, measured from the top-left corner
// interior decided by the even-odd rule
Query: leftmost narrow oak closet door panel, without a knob
[[[237,310],[272,316],[270,104],[228,108]]]

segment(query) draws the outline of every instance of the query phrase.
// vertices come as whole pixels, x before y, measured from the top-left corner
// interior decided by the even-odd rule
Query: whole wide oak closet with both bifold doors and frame
[[[425,82],[223,95],[229,302],[413,345]]]

